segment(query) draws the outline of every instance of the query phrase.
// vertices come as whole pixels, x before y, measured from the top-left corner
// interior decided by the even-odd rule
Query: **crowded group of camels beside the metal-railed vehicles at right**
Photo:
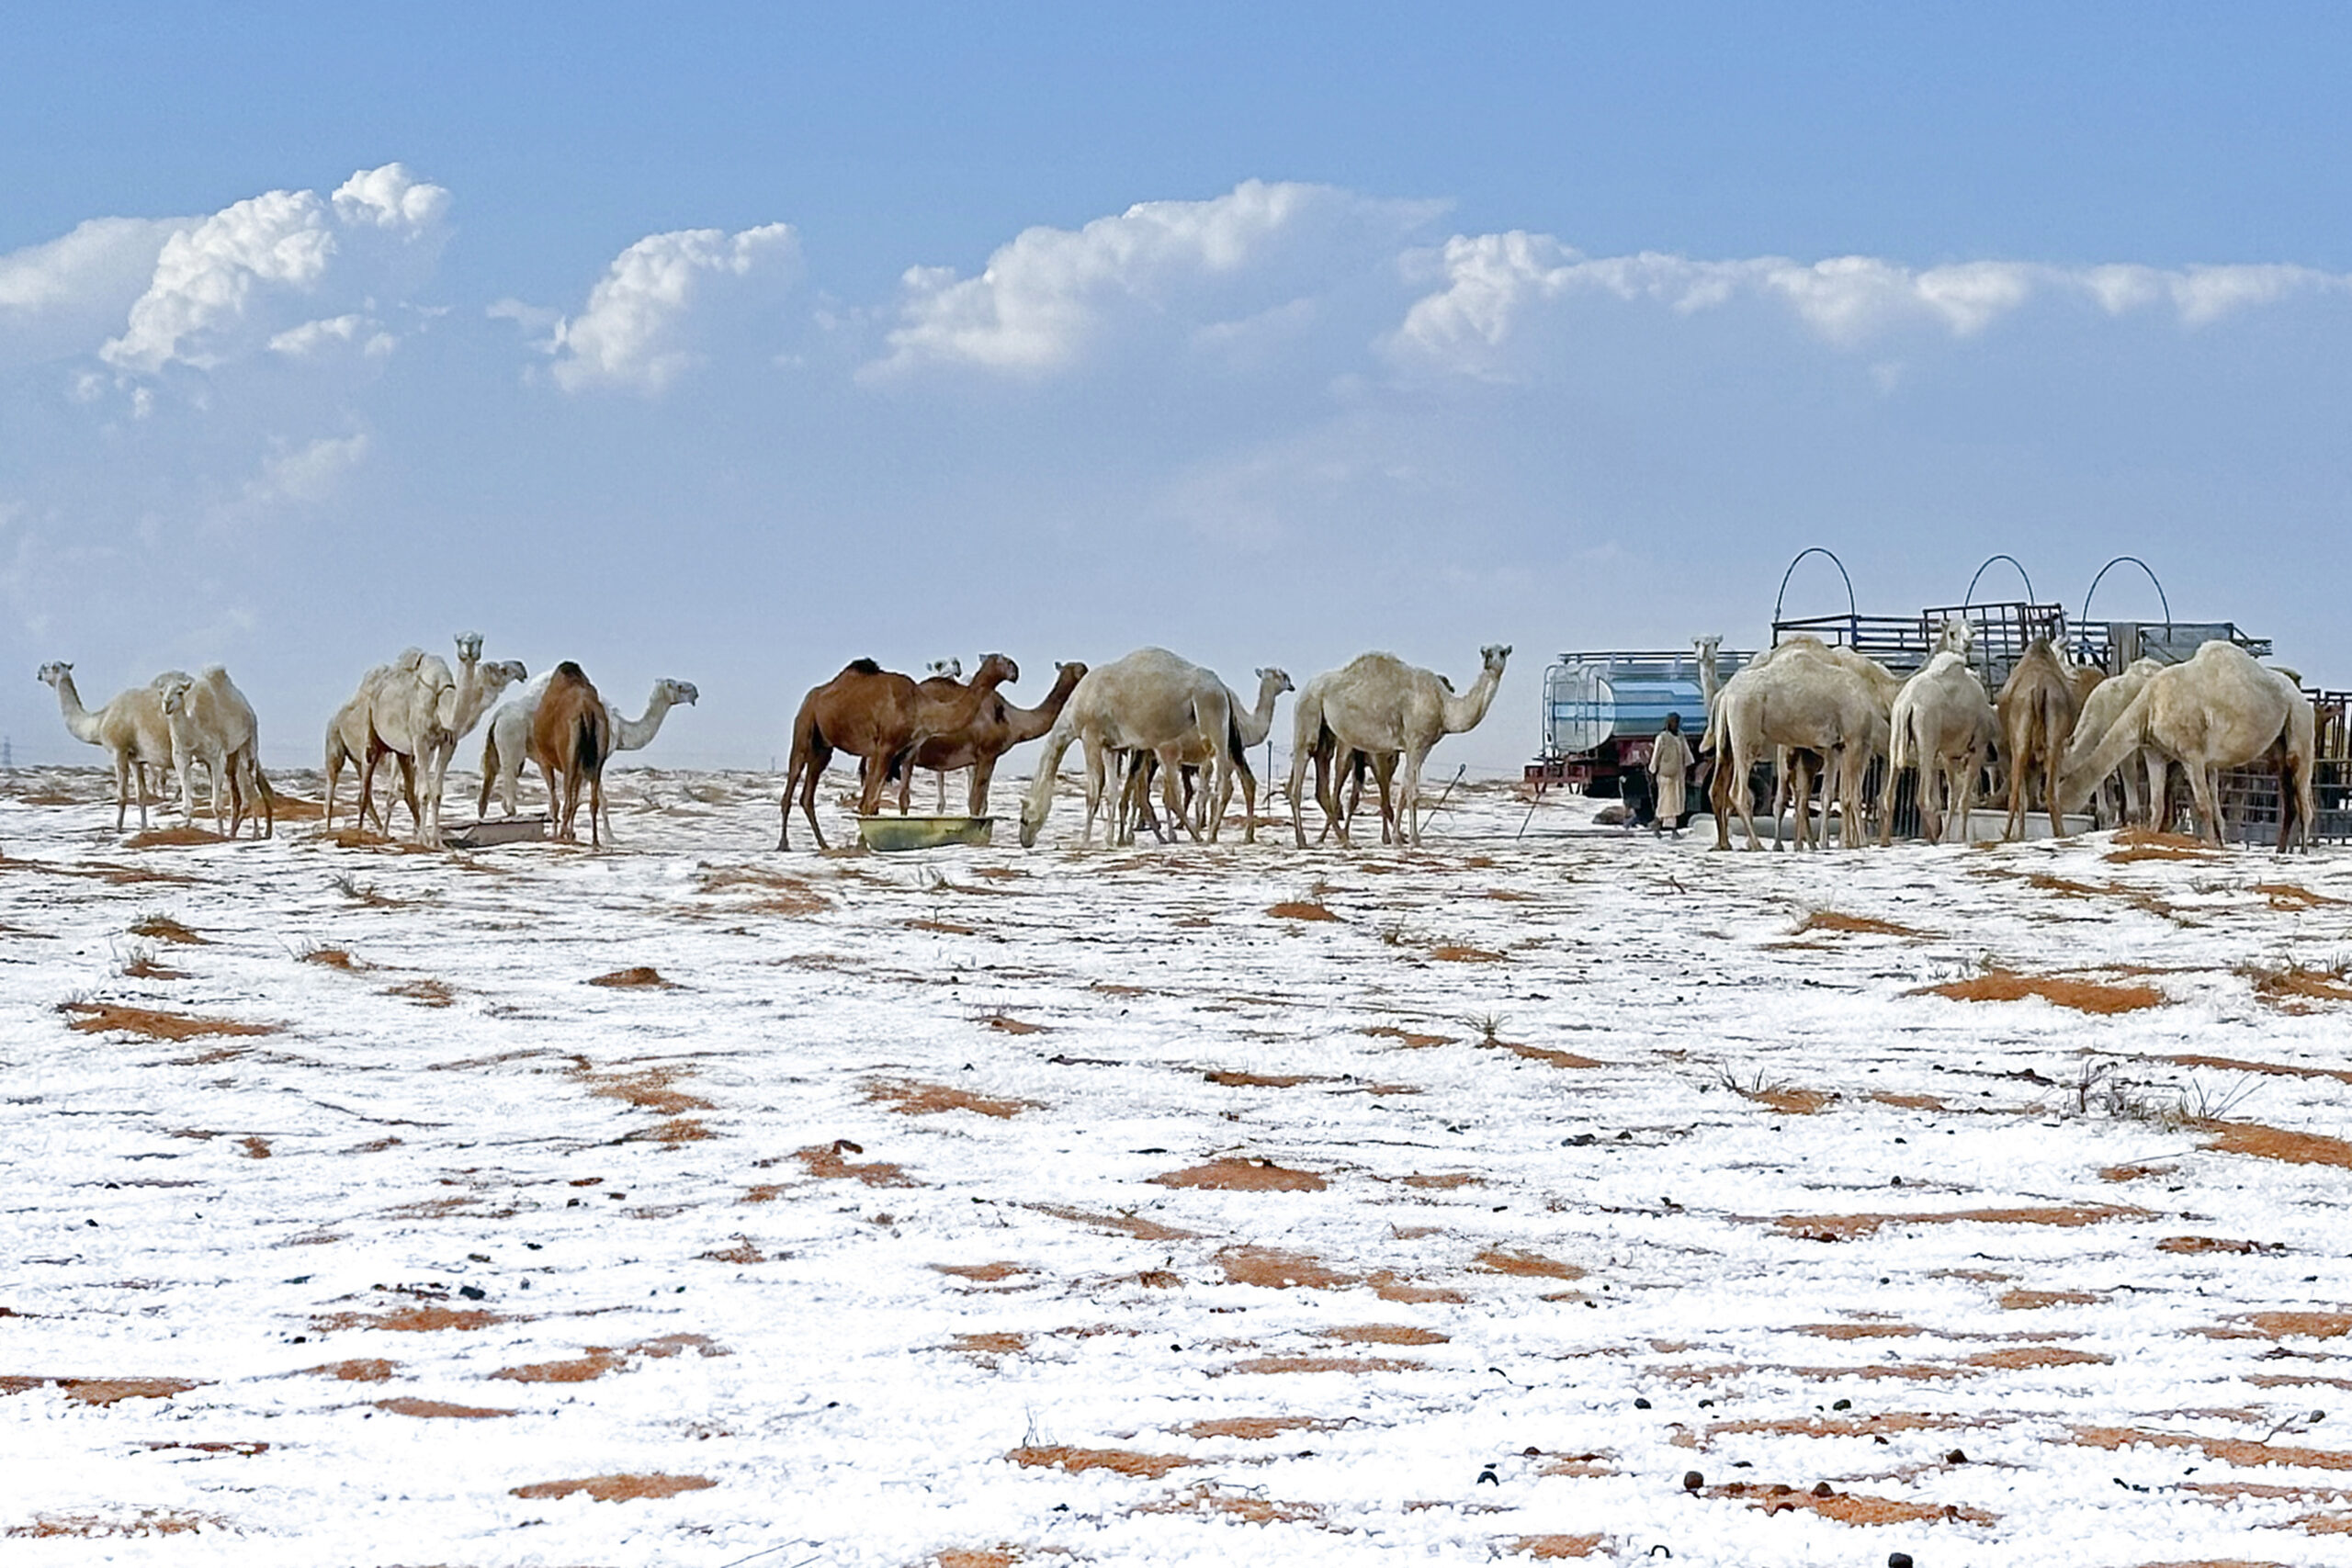
[[[1717,757],[1710,783],[1717,849],[1731,846],[1733,813],[1755,849],[1755,797],[1738,780],[1750,778],[1764,755],[1783,762],[1785,788],[1799,802],[1799,846],[1811,835],[1811,811],[1802,804],[1809,773],[1823,773],[1825,804],[1835,776],[1842,837],[1858,844],[1867,837],[1860,832],[1865,776],[1884,759],[1875,802],[1879,844],[1893,830],[1896,778],[1910,766],[1919,769],[1919,823],[1931,842],[1943,839],[1947,820],[1969,837],[1971,797],[1990,766],[2006,773],[2011,839],[2025,832],[2037,792],[2056,837],[2065,832],[2063,816],[2082,811],[2110,780],[2124,795],[2119,820],[2169,820],[2171,769],[2180,766],[2197,832],[2211,844],[2223,842],[2220,776],[2272,766],[2279,773],[2279,849],[2291,842],[2310,849],[2317,712],[2293,675],[2256,663],[2234,642],[2206,642],[2176,665],[2140,658],[2107,677],[2037,637],[1999,696],[1987,696],[1969,668],[1971,630],[1959,618],[1940,628],[1931,658],[1910,679],[1853,649],[1790,637],[1717,691],[1717,644],[1698,639],[1708,686],[1703,750]]]

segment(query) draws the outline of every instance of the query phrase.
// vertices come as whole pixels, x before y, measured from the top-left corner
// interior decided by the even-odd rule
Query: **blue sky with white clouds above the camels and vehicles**
[[[764,764],[858,654],[1501,639],[1508,766],[1811,543],[2352,682],[2352,14],[1456,9],[12,16],[0,726],[226,661],[313,762],[477,628]]]

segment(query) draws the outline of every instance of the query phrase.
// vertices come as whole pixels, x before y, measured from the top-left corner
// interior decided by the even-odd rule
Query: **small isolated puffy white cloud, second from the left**
[[[703,357],[713,315],[774,301],[800,282],[800,240],[790,223],[727,235],[682,228],[647,235],[614,256],[588,308],[553,324],[555,386],[579,393],[616,386],[659,393]],[[534,324],[529,306],[492,306]]]

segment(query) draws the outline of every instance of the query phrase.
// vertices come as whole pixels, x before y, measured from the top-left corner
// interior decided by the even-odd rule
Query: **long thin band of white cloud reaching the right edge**
[[[1837,348],[1860,348],[1905,327],[1955,339],[1985,331],[2034,299],[2091,301],[2110,315],[2169,306],[2204,327],[2237,310],[2303,294],[2347,294],[2352,275],[2296,266],[2065,268],[2032,261],[1962,261],[1910,268],[1879,256],[1693,261],[1661,252],[1585,256],[1550,235],[1456,235],[1406,256],[1406,275],[1435,282],[1383,341],[1392,357],[1468,376],[1508,374],[1508,343],[1545,303],[1569,296],[1651,301],[1677,313],[1762,299],[1797,315]]]

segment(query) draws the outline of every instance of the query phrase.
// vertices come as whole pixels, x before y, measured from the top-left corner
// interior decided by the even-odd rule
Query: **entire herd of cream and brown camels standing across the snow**
[[[1842,837],[1865,837],[1865,778],[1879,759],[1886,762],[1884,783],[1879,799],[1867,804],[1877,811],[1882,844],[1891,837],[1893,780],[1903,769],[1919,771],[1922,827],[1940,842],[1952,820],[1966,839],[1969,806],[1987,766],[2006,773],[2009,837],[2018,837],[2037,792],[2056,835],[2063,832],[2063,816],[2082,811],[2110,778],[2122,783],[2126,820],[2164,816],[2176,764],[2187,773],[2199,835],[2218,844],[2220,773],[2265,762],[2279,771],[2279,849],[2288,849],[2291,839],[2310,844],[2312,703],[2291,675],[2258,665],[2237,644],[2209,642],[2178,665],[2143,658],[2122,675],[2103,677],[2096,668],[2070,663],[2049,639],[2034,639],[1999,696],[1990,696],[1969,668],[1971,630],[1957,618],[1943,625],[1933,656],[1910,679],[1853,649],[1790,637],[1717,686],[1719,642],[1698,639],[1708,703],[1700,755],[1715,757],[1710,799],[1717,849],[1731,846],[1733,813],[1748,830],[1748,846],[1757,846],[1755,795],[1740,780],[1752,780],[1766,757],[1778,762],[1780,792],[1797,802],[1799,846],[1811,839],[1816,773],[1823,816],[1835,795],[1846,823]],[[906,813],[917,771],[938,776],[941,802],[946,776],[969,771],[969,806],[978,818],[988,813],[997,759],[1028,741],[1044,741],[1044,755],[1021,799],[1023,849],[1044,827],[1054,780],[1073,745],[1084,745],[1087,766],[1080,844],[1091,842],[1096,816],[1112,844],[1131,842],[1136,827],[1167,837],[1152,811],[1155,783],[1171,823],[1195,839],[1218,837],[1240,785],[1244,837],[1254,842],[1256,776],[1247,752],[1272,731],[1275,701],[1287,691],[1298,696],[1289,778],[1298,846],[1308,844],[1303,802],[1310,766],[1327,837],[1350,842],[1369,776],[1381,797],[1381,839],[1421,844],[1423,762],[1437,741],[1486,717],[1508,658],[1510,646],[1479,649],[1479,672],[1468,691],[1392,654],[1362,654],[1296,689],[1289,675],[1268,668],[1256,672],[1256,703],[1244,705],[1214,670],[1167,649],[1138,649],[1091,670],[1082,663],[1056,665],[1054,689],[1035,708],[1004,698],[1002,686],[1018,682],[1021,668],[1002,654],[988,654],[969,682],[953,663],[915,679],[858,658],[814,686],[793,717],[776,846],[790,846],[795,795],[818,849],[826,846],[816,790],[835,755],[861,764],[861,816],[880,811],[889,780],[898,780],[898,811]],[[118,832],[134,797],[146,827],[151,776],[155,783],[176,776],[181,813],[193,823],[198,769],[207,776],[219,830],[233,837],[247,816],[256,835],[275,830],[254,710],[221,665],[200,675],[167,670],[99,710],[82,705],[73,665],[42,665],[40,679],[56,689],[66,729],[111,752]],[[383,762],[393,762],[414,837],[437,846],[449,762],[459,741],[487,715],[477,811],[487,816],[499,799],[515,816],[522,766],[536,762],[555,835],[576,839],[586,795],[590,844],[604,844],[604,762],[649,745],[663,715],[696,698],[691,682],[661,679],[644,712],[630,719],[572,661],[532,679],[515,661],[485,663],[477,632],[456,637],[454,670],[433,654],[407,649],[372,668],[327,724],[327,830],[334,827],[341,773],[355,766],[358,825],[365,830],[374,820],[390,832],[390,804],[379,806],[376,776]],[[1343,804],[1350,778],[1352,797]]]

